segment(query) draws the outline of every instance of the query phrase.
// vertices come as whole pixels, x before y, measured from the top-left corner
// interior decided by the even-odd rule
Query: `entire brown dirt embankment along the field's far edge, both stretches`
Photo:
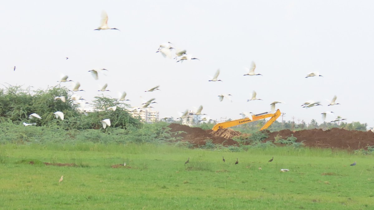
[[[194,144],[196,147],[205,145],[205,142],[208,139],[211,139],[212,143],[215,144],[222,144],[225,146],[237,145],[237,142],[231,138],[226,139],[224,137],[216,136],[217,132],[212,130],[203,130],[198,127],[189,127],[174,123],[170,124],[168,127],[171,128],[171,132],[183,131],[183,133],[177,134],[175,137],[183,137],[181,141],[187,141]],[[226,134],[229,133],[229,129],[224,130],[223,133],[225,132]],[[279,135],[282,139],[286,139],[287,137],[293,135],[297,138],[297,142],[303,141],[306,146],[318,148],[340,148],[353,150],[374,145],[374,133],[371,131],[363,132],[358,130],[333,128],[330,130],[281,130],[268,134],[269,137],[265,141],[274,142],[274,138],[277,135]],[[233,135],[237,135],[237,133],[234,133]],[[227,137],[228,135],[225,136]]]

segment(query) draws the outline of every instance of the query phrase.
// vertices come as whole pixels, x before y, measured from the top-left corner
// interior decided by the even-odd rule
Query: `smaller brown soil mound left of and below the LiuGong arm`
[[[206,140],[209,139],[212,140],[212,143],[225,146],[237,144],[237,142],[232,139],[211,135],[211,132],[213,132],[212,130],[203,130],[199,127],[189,127],[175,123],[170,124],[168,127],[170,128],[170,132],[176,133],[173,137],[182,137],[183,139],[181,141],[187,141],[196,147],[205,145]]]

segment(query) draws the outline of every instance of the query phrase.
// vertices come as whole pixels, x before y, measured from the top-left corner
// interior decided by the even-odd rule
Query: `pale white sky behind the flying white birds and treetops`
[[[374,126],[374,1],[4,1],[0,84],[55,86],[60,74],[79,81],[83,98],[117,98],[126,91],[133,106],[156,98],[160,117],[203,105],[212,119],[239,113],[286,113],[284,120],[333,111]],[[110,27],[94,31],[101,11]],[[199,58],[176,63],[155,53],[170,41]],[[65,59],[68,57],[69,59]],[[263,76],[243,76],[251,61]],[[16,71],[13,72],[13,67]],[[89,70],[105,68],[94,80]],[[217,69],[223,82],[208,82]],[[324,77],[304,78],[319,71]],[[71,88],[74,83],[62,83]],[[144,92],[156,85],[161,91]],[[264,101],[246,102],[252,90]],[[218,95],[233,95],[218,101]],[[341,105],[327,106],[337,95]],[[308,100],[323,106],[301,108]],[[90,101],[90,100],[89,100]],[[280,118],[279,118],[280,119]],[[327,121],[333,120],[328,116]]]

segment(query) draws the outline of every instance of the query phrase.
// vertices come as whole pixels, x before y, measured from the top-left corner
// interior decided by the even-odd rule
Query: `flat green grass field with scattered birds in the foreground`
[[[371,156],[329,149],[7,144],[0,209],[374,209],[373,166]]]

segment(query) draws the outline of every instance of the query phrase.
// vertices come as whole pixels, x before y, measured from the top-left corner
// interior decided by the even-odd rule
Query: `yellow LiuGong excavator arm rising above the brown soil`
[[[216,130],[221,129],[221,128],[228,128],[228,127],[237,126],[237,125],[241,125],[241,124],[245,124],[245,123],[253,122],[253,121],[256,121],[256,120],[262,120],[264,118],[271,117],[270,120],[267,121],[264,124],[264,126],[262,126],[261,129],[260,129],[260,130],[264,130],[264,129],[267,129],[271,124],[273,124],[274,121],[279,116],[281,116],[281,111],[279,111],[279,109],[277,109],[277,111],[275,113],[270,113],[269,114],[269,112],[264,112],[264,113],[261,113],[261,114],[254,114],[254,115],[252,115],[252,120],[249,119],[248,117],[246,117],[246,118],[243,118],[243,119],[240,119],[240,120],[232,120],[232,121],[227,121],[227,122],[223,122],[223,123],[218,123],[212,128],[212,130],[216,131]]]

